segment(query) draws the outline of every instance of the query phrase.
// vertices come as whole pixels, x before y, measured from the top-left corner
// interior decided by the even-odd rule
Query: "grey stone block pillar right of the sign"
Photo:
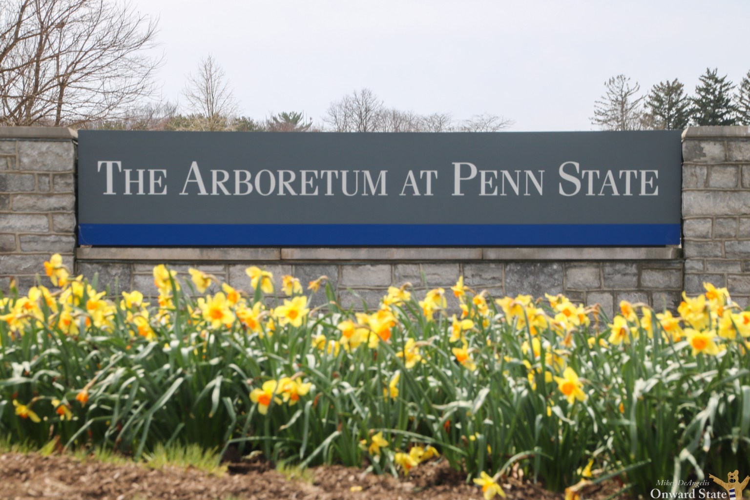
[[[750,298],[750,127],[689,127],[682,133],[685,291],[727,286]]]

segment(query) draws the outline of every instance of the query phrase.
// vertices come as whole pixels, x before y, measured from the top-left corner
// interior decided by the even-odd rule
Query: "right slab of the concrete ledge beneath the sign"
[[[682,251],[665,248],[485,248],[484,260],[665,260],[679,259]]]

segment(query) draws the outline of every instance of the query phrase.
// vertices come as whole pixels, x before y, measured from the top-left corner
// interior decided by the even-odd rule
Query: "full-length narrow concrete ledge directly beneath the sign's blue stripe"
[[[666,248],[102,248],[76,249],[79,260],[127,261],[481,261],[481,260],[671,260]]]

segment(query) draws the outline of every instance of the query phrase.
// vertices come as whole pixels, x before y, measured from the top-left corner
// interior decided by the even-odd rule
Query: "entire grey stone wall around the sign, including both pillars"
[[[75,147],[72,130],[0,127],[3,291],[10,277],[28,289],[34,274],[43,274],[42,262],[57,252],[78,273],[98,273],[112,292],[155,293],[151,268],[166,262],[183,274],[201,268],[240,288],[249,286],[249,265],[267,268],[278,280],[293,274],[307,283],[325,274],[341,303],[358,308],[363,300],[377,304],[392,284],[447,290],[459,275],[493,295],[563,292],[598,302],[607,313],[622,299],[674,309],[682,289],[700,293],[703,281],[727,286],[743,306],[750,298],[748,127],[685,130],[682,248],[77,248]]]

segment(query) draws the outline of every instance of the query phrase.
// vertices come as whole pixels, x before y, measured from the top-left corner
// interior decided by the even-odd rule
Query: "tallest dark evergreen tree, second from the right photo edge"
[[[700,84],[695,87],[692,97],[692,122],[696,125],[734,125],[737,109],[732,102],[734,85],[727,81],[727,76],[719,78],[717,70],[706,68],[700,76]]]

